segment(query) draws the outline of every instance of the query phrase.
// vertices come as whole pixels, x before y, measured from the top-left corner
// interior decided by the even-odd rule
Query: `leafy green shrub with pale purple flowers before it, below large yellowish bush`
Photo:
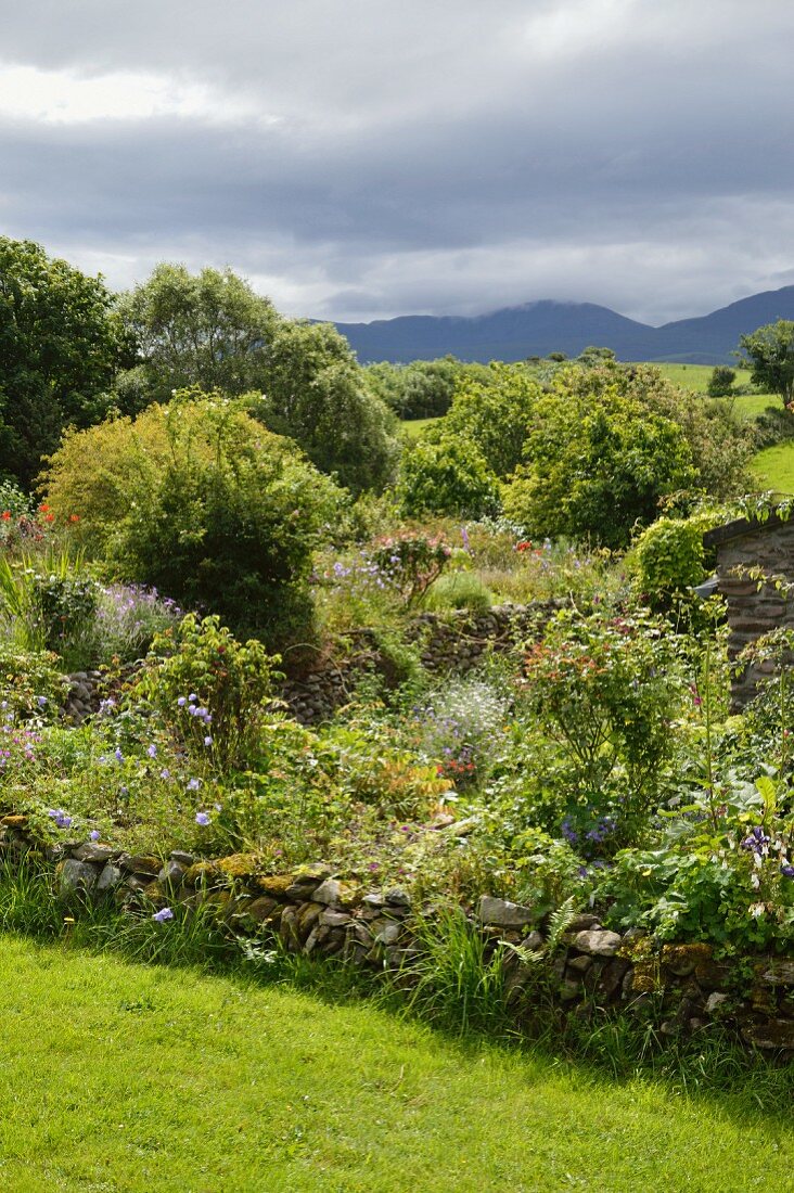
[[[187,613],[155,637],[130,699],[155,709],[195,758],[245,767],[261,749],[278,662],[260,642],[238,642],[217,617]]]

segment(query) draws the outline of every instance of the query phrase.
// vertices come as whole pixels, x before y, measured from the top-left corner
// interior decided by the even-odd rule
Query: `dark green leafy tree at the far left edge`
[[[100,277],[0,237],[0,472],[30,484],[64,427],[101,419],[124,350]]]

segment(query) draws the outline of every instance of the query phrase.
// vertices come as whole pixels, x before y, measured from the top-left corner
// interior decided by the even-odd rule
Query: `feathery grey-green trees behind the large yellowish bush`
[[[331,323],[282,319],[232,270],[159,265],[123,307],[139,366],[117,385],[118,408],[197,385],[232,397],[257,395],[250,410],[289,435],[325,472],[353,492],[392,476],[392,416],[365,387],[347,341]]]

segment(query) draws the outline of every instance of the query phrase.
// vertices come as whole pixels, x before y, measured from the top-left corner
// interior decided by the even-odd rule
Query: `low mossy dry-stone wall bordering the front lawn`
[[[365,890],[325,865],[267,874],[253,854],[196,860],[174,851],[164,863],[98,841],[42,846],[25,816],[0,817],[0,857],[24,863],[31,853],[53,866],[66,909],[76,901],[109,898],[140,914],[141,896],[160,910],[213,904],[241,939],[279,940],[293,953],[400,971],[407,981],[421,953],[416,917],[433,915],[432,907],[414,908],[401,889]],[[469,919],[493,947],[499,941],[513,946],[504,965],[518,1025],[531,1013],[541,975],[544,993],[564,1014],[653,1009],[661,1034],[671,1037],[720,1022],[745,1044],[794,1061],[792,959],[718,960],[710,945],[659,945],[636,928],[611,932],[592,914],[574,916],[556,951],[543,957],[547,939],[533,908],[486,895]]]

